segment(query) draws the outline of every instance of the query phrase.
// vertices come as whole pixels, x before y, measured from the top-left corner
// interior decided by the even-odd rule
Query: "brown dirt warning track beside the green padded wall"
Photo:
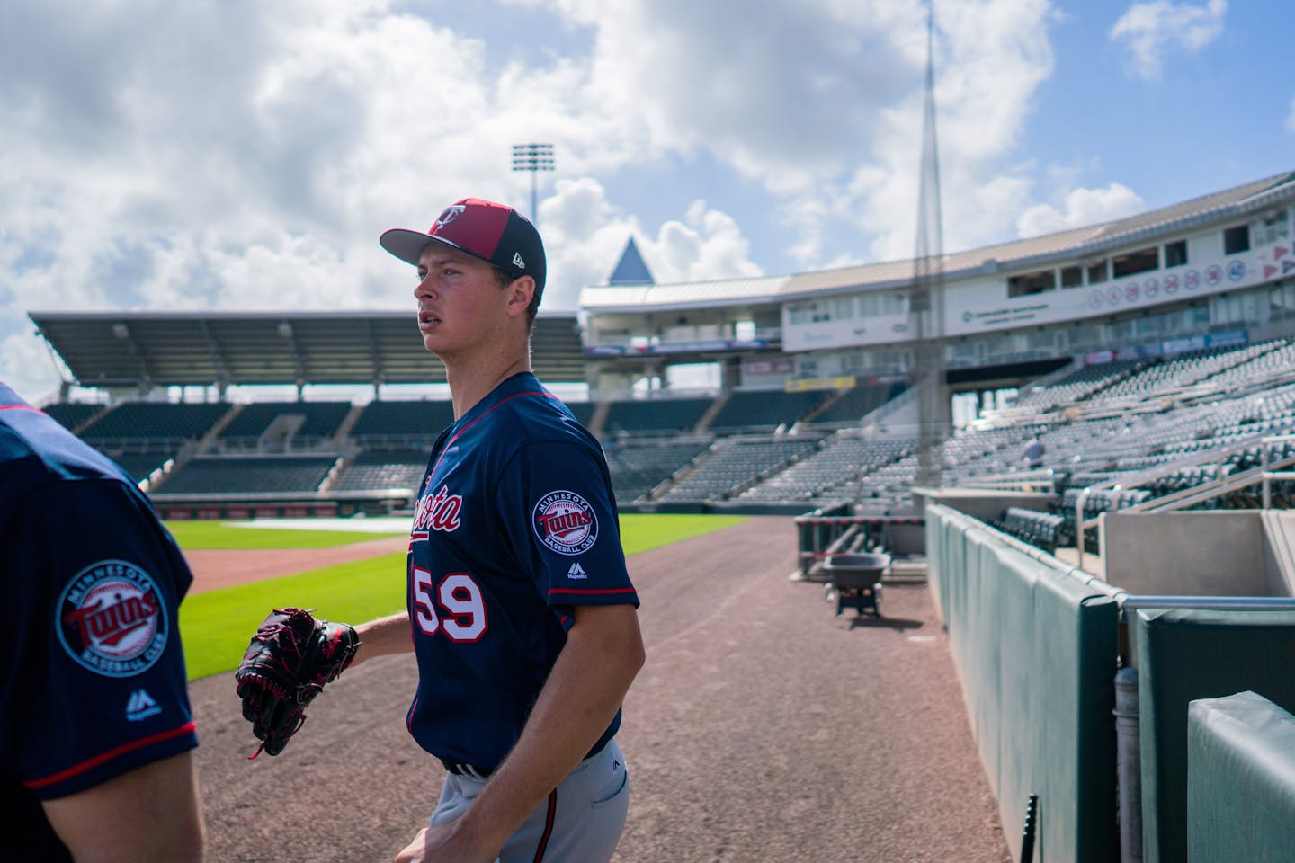
[[[631,559],[648,665],[615,859],[1008,863],[926,587],[888,586],[860,622],[794,567],[783,518]],[[343,674],[255,761],[232,675],[197,681],[208,859],[391,860],[444,774],[404,728],[416,677],[411,656]]]

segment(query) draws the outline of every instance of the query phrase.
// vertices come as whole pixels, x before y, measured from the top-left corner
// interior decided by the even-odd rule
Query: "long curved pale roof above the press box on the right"
[[[1087,255],[1098,256],[1146,237],[1188,230],[1200,224],[1259,212],[1290,201],[1295,201],[1295,172],[1255,180],[1160,210],[1087,228],[951,252],[944,255],[944,274],[957,278],[1048,265]],[[774,303],[844,290],[901,287],[912,283],[914,261],[908,259],[794,276],[673,285],[593,286],[581,291],[580,307],[594,313],[614,313],[629,309],[638,312],[677,309],[688,305],[723,307],[734,301]]]

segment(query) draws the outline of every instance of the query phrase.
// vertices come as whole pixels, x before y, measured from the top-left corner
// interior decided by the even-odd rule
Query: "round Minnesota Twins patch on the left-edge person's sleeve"
[[[78,572],[58,602],[56,622],[63,650],[107,677],[149,669],[170,631],[153,577],[124,560],[100,560]]]

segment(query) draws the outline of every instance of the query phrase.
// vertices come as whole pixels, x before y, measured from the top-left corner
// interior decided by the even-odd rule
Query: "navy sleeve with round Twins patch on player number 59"
[[[527,444],[497,496],[509,542],[563,626],[574,606],[638,604],[601,454],[578,442]]]

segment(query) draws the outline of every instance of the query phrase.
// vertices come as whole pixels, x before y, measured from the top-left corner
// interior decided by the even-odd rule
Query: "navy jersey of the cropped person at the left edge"
[[[40,801],[197,745],[176,612],[193,576],[111,461],[0,386],[6,859],[70,859]]]

